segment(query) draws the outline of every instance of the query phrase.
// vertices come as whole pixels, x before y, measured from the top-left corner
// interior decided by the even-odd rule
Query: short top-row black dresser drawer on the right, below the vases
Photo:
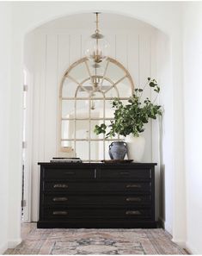
[[[151,170],[150,169],[130,169],[130,168],[119,168],[115,169],[105,168],[100,170],[100,178],[102,179],[150,179]]]

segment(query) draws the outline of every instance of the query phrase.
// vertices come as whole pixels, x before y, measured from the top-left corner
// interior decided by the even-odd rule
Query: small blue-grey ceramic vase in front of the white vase
[[[124,141],[113,141],[109,145],[108,153],[111,159],[125,159],[126,143]]]

